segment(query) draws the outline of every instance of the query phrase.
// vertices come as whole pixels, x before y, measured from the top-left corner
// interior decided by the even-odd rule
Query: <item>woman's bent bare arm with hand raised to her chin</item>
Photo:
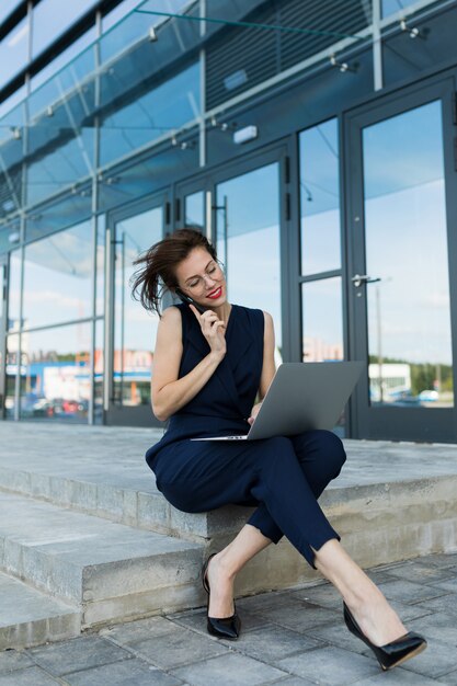
[[[192,306],[191,306],[192,307]],[[210,379],[226,354],[224,322],[212,311],[197,317],[210,351],[197,365],[178,378],[183,353],[181,313],[169,307],[160,320],[151,379],[152,412],[164,422],[194,398]]]

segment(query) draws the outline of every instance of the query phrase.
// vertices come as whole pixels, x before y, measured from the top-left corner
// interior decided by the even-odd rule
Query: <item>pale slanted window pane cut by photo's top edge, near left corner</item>
[[[33,10],[32,56],[39,55],[95,4],[96,0],[42,0]]]

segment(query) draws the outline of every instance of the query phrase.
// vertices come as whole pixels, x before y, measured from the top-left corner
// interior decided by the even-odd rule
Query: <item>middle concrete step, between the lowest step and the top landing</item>
[[[81,609],[81,627],[203,603],[204,547],[0,493],[0,569]]]

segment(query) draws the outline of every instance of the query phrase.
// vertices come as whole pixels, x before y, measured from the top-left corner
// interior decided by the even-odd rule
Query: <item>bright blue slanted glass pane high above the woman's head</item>
[[[137,93],[129,104],[103,121],[100,163],[107,164],[178,130],[199,114],[199,64],[194,64],[148,93]]]

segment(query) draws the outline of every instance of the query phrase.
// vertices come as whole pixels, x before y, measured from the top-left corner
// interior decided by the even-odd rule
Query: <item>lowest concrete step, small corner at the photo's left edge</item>
[[[81,610],[0,573],[0,651],[79,636]]]

